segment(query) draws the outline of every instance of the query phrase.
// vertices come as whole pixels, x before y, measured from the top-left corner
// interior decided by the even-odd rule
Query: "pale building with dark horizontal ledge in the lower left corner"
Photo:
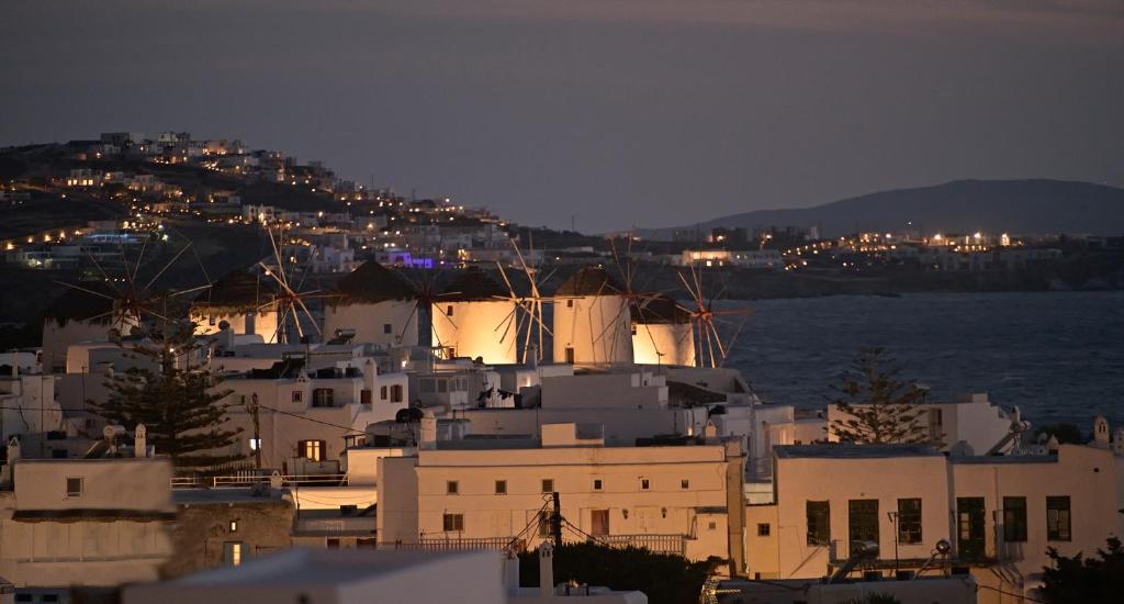
[[[136,450],[151,452],[143,443]],[[10,443],[0,576],[55,602],[75,587],[156,580],[172,553],[171,478],[166,459],[21,459]]]

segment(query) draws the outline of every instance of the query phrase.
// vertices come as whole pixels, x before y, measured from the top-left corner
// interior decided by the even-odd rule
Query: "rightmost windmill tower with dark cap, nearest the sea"
[[[633,358],[638,364],[695,364],[691,315],[667,296],[641,297],[632,308]]]

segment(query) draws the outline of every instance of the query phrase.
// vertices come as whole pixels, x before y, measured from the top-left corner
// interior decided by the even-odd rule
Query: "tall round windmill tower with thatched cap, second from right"
[[[554,362],[633,362],[632,316],[622,287],[599,265],[582,267],[554,292]]]

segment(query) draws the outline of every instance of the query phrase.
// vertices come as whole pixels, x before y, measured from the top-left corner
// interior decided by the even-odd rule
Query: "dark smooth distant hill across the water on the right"
[[[908,223],[913,227],[907,227]],[[923,233],[1124,234],[1124,189],[1062,180],[958,180],[897,189],[798,209],[769,209],[699,224],[716,226],[818,226],[824,237],[860,231]],[[641,232],[670,238],[674,228]]]

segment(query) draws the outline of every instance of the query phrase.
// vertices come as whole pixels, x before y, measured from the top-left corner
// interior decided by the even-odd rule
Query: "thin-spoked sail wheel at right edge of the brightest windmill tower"
[[[526,296],[520,296],[515,292],[515,287],[511,286],[511,280],[507,276],[507,271],[504,270],[504,265],[499,262],[496,267],[499,268],[500,277],[504,278],[504,285],[507,286],[507,296],[497,296],[498,300],[506,301],[510,306],[507,313],[504,315],[502,319],[492,330],[499,334],[499,343],[505,346],[507,351],[506,354],[515,355],[516,346],[518,344],[520,334],[523,336],[523,357],[520,362],[526,363],[532,344],[535,344],[535,360],[542,361],[545,351],[544,343],[546,340],[546,334],[553,336],[553,332],[546,327],[546,323],[543,322],[543,306],[547,301],[552,301],[553,298],[544,298],[542,295],[542,283],[550,280],[554,272],[550,272],[546,277],[542,277],[540,269],[533,263],[527,262],[527,255],[532,259],[534,258],[534,247],[529,250],[527,255],[524,255],[519,250],[519,246],[511,241],[511,247],[515,250],[515,256],[518,261],[517,264],[511,268],[516,271],[523,272],[527,280],[528,294]],[[508,337],[510,336],[510,337]]]

